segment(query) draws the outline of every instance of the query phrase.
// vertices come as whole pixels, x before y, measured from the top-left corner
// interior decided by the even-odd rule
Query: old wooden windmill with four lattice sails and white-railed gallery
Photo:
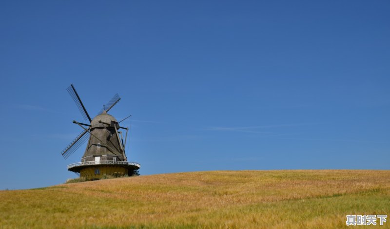
[[[93,119],[89,116],[84,104],[81,102],[78,93],[71,84],[67,91],[78,106],[78,110],[84,117],[85,121],[90,124],[73,121],[80,126],[83,131],[77,135],[71,143],[61,152],[61,155],[67,159],[75,153],[77,149],[88,139],[87,148],[81,161],[68,165],[68,170],[79,173],[81,177],[90,180],[97,180],[104,175],[124,176],[133,174],[141,165],[136,162],[127,161],[125,153],[126,139],[129,128],[119,126],[119,123],[125,120],[117,121],[117,119],[107,114],[120,100],[118,94],[100,110],[98,115]],[[122,131],[126,131],[125,141],[123,142]]]

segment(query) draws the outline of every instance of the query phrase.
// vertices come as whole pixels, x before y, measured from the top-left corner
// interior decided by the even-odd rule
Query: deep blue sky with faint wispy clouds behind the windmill
[[[132,114],[141,175],[390,159],[390,2],[0,1],[0,189],[74,178],[83,121]],[[130,120],[124,122],[130,126]]]

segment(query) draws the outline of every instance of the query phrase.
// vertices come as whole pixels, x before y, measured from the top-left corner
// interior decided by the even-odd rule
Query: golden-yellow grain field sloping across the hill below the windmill
[[[4,229],[344,228],[347,214],[390,217],[390,171],[212,171],[89,181],[0,191],[0,214]],[[375,227],[390,228],[389,217]]]

